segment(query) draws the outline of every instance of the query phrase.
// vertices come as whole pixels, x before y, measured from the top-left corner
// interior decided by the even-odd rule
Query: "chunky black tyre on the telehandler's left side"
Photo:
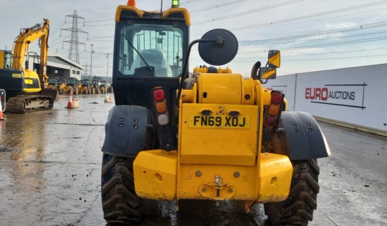
[[[133,161],[134,158],[103,154],[103,217],[112,225],[128,225],[141,219],[142,200],[134,191]]]

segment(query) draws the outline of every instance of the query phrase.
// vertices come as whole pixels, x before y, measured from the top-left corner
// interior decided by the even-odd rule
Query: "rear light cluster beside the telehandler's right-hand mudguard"
[[[266,110],[263,125],[268,129],[277,126],[278,117],[281,113],[281,107],[284,102],[284,95],[278,91],[272,91],[271,103]]]

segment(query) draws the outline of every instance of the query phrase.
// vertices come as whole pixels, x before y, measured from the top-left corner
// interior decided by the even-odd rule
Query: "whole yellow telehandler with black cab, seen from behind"
[[[102,147],[102,208],[108,223],[141,219],[144,199],[264,203],[273,225],[307,225],[319,193],[318,158],[330,155],[315,119],[287,112],[274,79],[280,52],[269,51],[251,78],[201,66],[188,73],[191,48],[226,65],[238,41],[223,29],[189,43],[190,14],[178,0],[164,12],[117,8],[114,106]],[[176,3],[176,4],[175,4]]]

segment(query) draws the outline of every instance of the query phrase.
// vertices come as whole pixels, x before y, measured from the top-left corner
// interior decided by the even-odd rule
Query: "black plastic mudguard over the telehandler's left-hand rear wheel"
[[[109,111],[102,151],[135,157],[146,145],[146,130],[152,127],[148,110],[140,106],[118,105]]]

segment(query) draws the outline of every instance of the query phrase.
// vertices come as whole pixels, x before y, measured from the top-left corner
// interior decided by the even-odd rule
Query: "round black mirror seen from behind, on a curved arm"
[[[199,43],[199,55],[210,65],[226,65],[238,53],[238,40],[235,35],[225,29],[214,29],[205,33],[202,39],[218,39],[219,42]]]

